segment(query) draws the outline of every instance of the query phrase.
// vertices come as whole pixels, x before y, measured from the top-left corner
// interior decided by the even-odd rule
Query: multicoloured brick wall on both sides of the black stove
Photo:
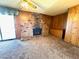
[[[16,16],[16,35],[18,37],[28,37],[33,36],[33,28],[36,23],[34,14],[39,16],[39,25],[42,28],[43,36],[49,35],[49,26],[51,21],[51,16],[20,11],[19,15]]]

